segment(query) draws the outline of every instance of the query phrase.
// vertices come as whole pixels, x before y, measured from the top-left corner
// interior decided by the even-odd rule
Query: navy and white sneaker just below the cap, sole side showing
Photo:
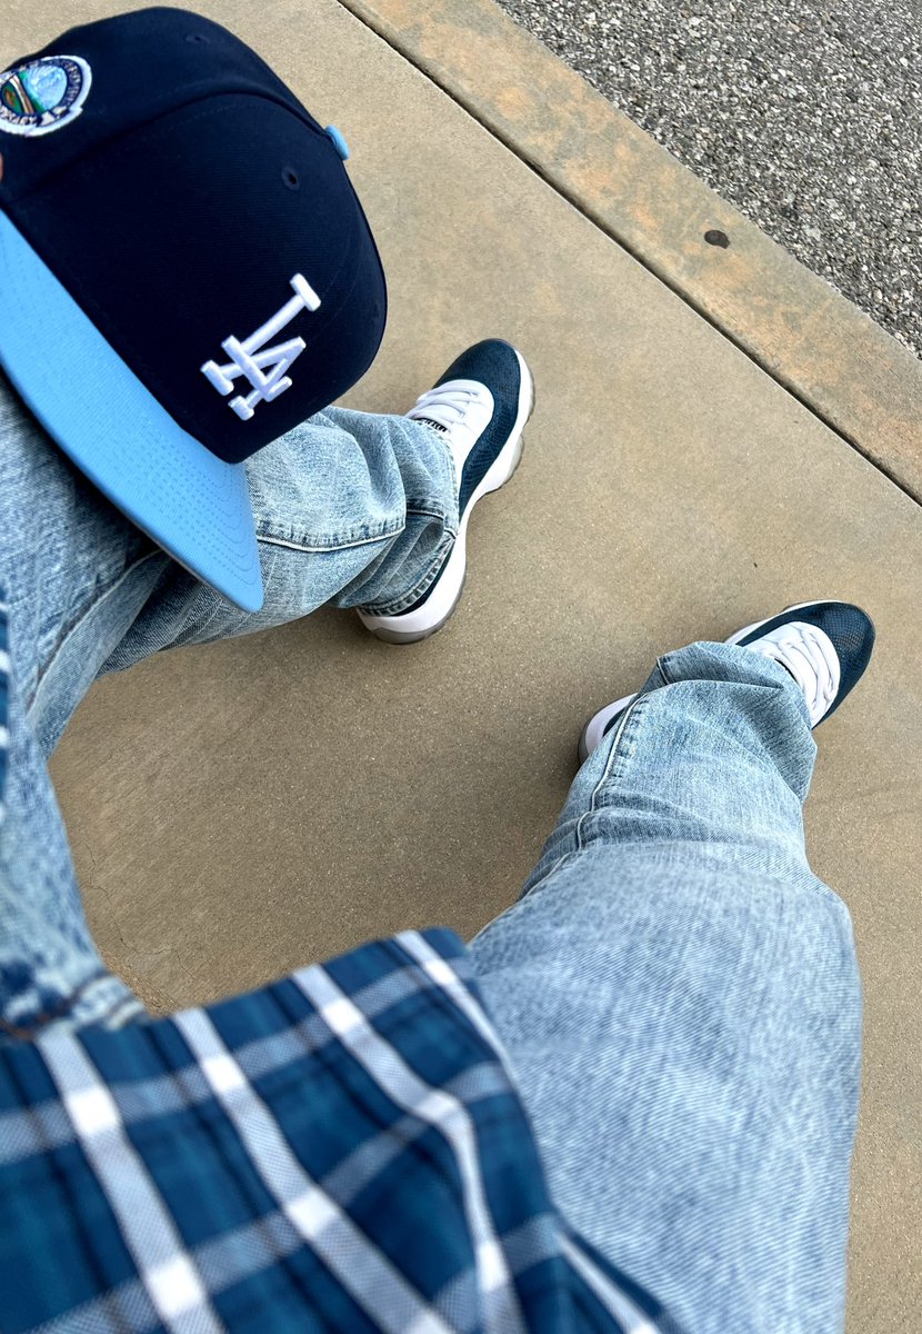
[[[488,339],[462,352],[441,380],[406,415],[440,431],[460,479],[458,535],[442,568],[422,598],[396,616],[358,615],[372,634],[392,644],[410,644],[441,630],[461,599],[466,572],[468,520],[490,491],[498,491],[518,467],[522,430],[534,407],[534,386],[525,359],[509,343]]]

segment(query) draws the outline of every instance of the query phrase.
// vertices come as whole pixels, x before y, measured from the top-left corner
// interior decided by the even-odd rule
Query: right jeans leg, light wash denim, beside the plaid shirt
[[[842,1325],[861,991],[814,752],[778,662],[669,654],[472,946],[558,1206],[693,1334]]]

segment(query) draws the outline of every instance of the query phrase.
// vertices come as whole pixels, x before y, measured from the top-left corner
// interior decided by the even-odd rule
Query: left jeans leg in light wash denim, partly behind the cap
[[[45,767],[89,684],[155,650],[261,630],[328,602],[398,610],[433,580],[457,528],[449,451],[404,418],[330,410],[261,451],[250,488],[266,592],[257,615],[204,587],[109,506],[0,375],[11,684],[0,1042],[55,1021],[119,1025],[140,1011],[89,935]]]

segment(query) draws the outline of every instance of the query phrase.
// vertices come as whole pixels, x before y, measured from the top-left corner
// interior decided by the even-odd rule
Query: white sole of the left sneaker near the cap
[[[481,478],[480,486],[468,502],[468,508],[458,524],[458,535],[454,539],[452,554],[442,568],[438,582],[426,600],[413,611],[405,611],[397,616],[369,616],[364,611],[358,612],[361,623],[385,643],[414,644],[421,639],[428,639],[442,628],[461,600],[464,580],[468,572],[468,522],[477,502],[489,495],[490,491],[498,491],[500,487],[504,487],[518,467],[525,443],[522,431],[534,408],[534,382],[532,372],[525,364],[521,352],[516,351],[516,356],[518,358],[521,372],[516,422],[509,439]]]

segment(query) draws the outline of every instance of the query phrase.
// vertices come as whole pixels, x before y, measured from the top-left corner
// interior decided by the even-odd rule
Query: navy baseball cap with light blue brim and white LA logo
[[[345,156],[183,9],[72,28],[0,73],[0,363],[77,467],[246,611],[245,460],[345,394],[384,334]]]

